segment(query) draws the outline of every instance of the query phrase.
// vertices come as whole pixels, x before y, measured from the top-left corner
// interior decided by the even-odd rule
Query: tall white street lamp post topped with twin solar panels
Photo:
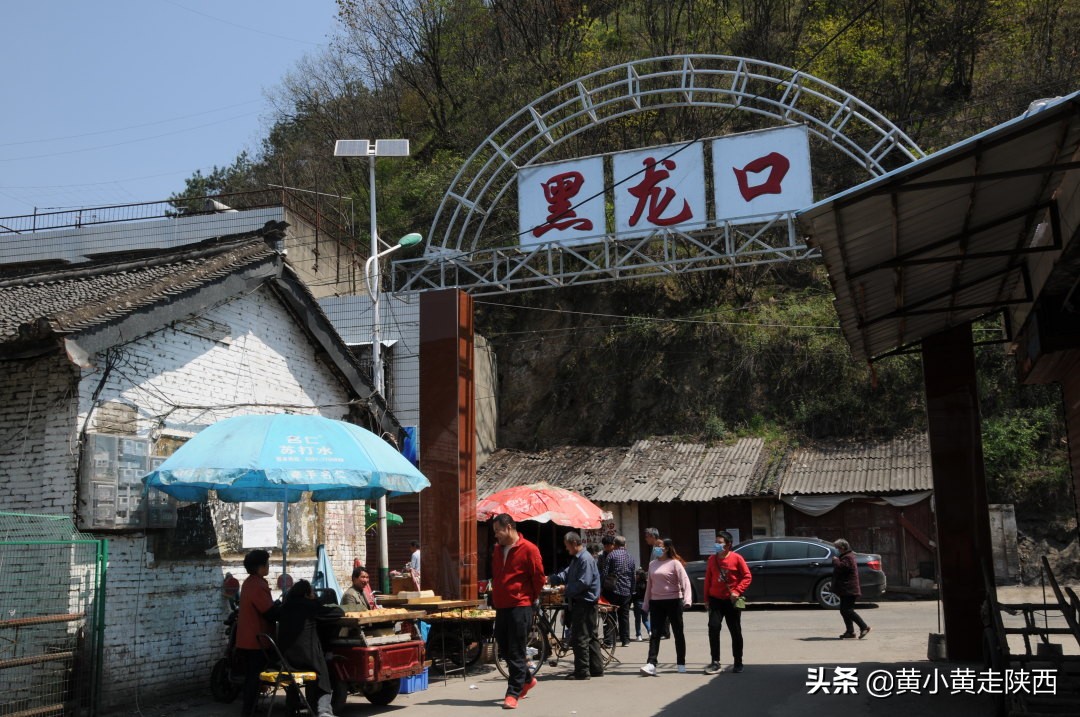
[[[372,253],[364,263],[364,279],[367,283],[367,294],[372,297],[372,387],[380,396],[384,395],[382,385],[382,344],[379,341],[379,258],[421,241],[420,234],[406,234],[397,244],[380,252],[378,222],[375,206],[375,158],[376,157],[408,157],[408,139],[338,139],[334,143],[334,157],[366,157],[368,160],[368,195],[370,198],[372,215]],[[387,498],[378,500],[379,522],[379,589],[382,593],[390,592],[390,546],[387,540]]]

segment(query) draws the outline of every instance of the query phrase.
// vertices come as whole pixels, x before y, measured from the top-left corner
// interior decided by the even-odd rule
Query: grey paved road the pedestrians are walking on
[[[1034,597],[1034,595],[1032,595]],[[740,675],[724,672],[705,676],[708,640],[705,613],[687,614],[687,664],[689,672],[675,672],[675,646],[664,640],[660,650],[660,674],[642,677],[638,667],[645,662],[647,642],[620,648],[620,663],[603,678],[591,681],[564,681],[567,661],[557,667],[544,666],[540,684],[522,701],[518,714],[530,716],[590,717],[648,715],[684,716],[730,714],[740,717],[985,717],[993,714],[986,695],[949,694],[953,671],[981,665],[934,663],[927,661],[929,633],[937,632],[936,603],[895,601],[867,606],[860,610],[873,632],[865,640],[839,640],[842,632],[839,613],[812,606],[751,606],[743,619],[746,640],[746,669]],[[728,667],[728,640],[721,637],[721,662]],[[856,693],[835,693],[835,669],[854,668]],[[807,686],[811,669],[821,668],[822,681],[829,693],[810,693]],[[875,698],[867,693],[866,679],[874,671],[890,674],[915,671],[922,680],[937,676],[939,693],[892,694]],[[935,673],[936,671],[936,673]],[[888,690],[892,692],[893,690]],[[428,690],[400,695],[388,707],[375,707],[362,698],[351,698],[342,711],[345,717],[400,714],[401,717],[435,717],[450,714],[496,714],[500,709],[505,680],[491,666],[480,666],[462,679],[446,679],[432,674]],[[239,701],[231,705],[191,698],[144,706],[141,715],[190,715],[191,717],[237,717]],[[133,711],[116,712],[108,717],[127,717]],[[134,713],[138,714],[138,713]],[[278,714],[283,714],[279,711]]]

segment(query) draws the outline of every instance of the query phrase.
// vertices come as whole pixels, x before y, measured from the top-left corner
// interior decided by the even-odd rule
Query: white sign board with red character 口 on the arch
[[[802,125],[713,140],[718,222],[750,224],[760,215],[813,204],[810,139]]]

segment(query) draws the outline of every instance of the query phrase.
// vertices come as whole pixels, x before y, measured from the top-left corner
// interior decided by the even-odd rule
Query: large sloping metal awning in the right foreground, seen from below
[[[856,359],[1007,310],[1018,327],[1080,227],[1080,93],[819,202],[821,249]]]

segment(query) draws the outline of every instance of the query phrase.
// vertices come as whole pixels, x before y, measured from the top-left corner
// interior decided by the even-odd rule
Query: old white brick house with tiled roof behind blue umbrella
[[[108,539],[105,707],[208,684],[224,648],[221,581],[245,577],[243,547],[235,505],[151,505],[123,478],[95,482],[105,459],[84,446],[102,434],[165,455],[255,412],[396,428],[275,251],[281,230],[0,276],[0,510],[73,516]],[[299,505],[289,572],[310,577],[325,543],[347,579],[365,557],[364,504]],[[172,515],[175,528],[147,527]],[[279,571],[272,560],[271,582]]]

